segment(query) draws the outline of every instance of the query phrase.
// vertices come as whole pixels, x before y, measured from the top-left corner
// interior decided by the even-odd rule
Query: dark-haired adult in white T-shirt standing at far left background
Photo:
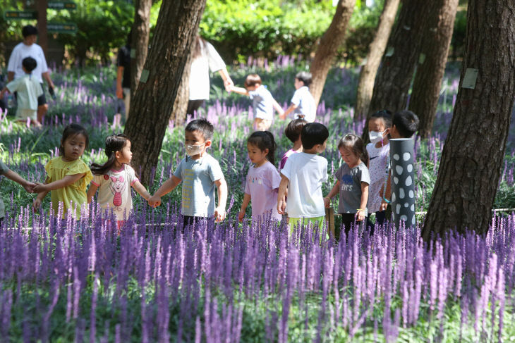
[[[37,66],[32,70],[32,77],[36,77],[37,81],[40,82],[43,87],[43,79],[47,80],[50,88],[54,88],[54,82],[50,78],[47,60],[44,58],[43,49],[41,46],[36,44],[37,41],[37,28],[32,25],[24,26],[21,30],[23,35],[23,42],[16,45],[9,57],[7,65],[7,80],[11,82],[14,79],[25,76],[21,61],[25,57],[32,57],[36,60]],[[47,99],[44,96],[44,92],[37,98],[37,121],[43,122],[44,115],[47,114],[48,104]]]

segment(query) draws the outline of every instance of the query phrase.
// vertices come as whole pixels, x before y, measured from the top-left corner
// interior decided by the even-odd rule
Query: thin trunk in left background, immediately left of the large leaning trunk
[[[134,22],[131,37],[131,99],[134,98],[138,82],[140,82],[141,70],[145,65],[148,51],[148,39],[150,37],[150,8],[152,0],[135,0]],[[132,106],[127,113],[132,112]]]

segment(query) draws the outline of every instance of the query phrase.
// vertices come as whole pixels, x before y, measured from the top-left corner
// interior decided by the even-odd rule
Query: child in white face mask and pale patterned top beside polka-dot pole
[[[392,112],[387,110],[377,111],[368,120],[368,136],[370,143],[367,144],[369,156],[368,170],[370,171],[370,189],[368,192],[368,213],[375,213],[375,223],[382,225],[386,217],[386,208],[389,204],[389,196],[385,196],[384,189],[389,185],[389,131],[392,127]],[[370,218],[370,216],[368,216]],[[374,225],[368,219],[367,226],[370,234],[373,233]]]

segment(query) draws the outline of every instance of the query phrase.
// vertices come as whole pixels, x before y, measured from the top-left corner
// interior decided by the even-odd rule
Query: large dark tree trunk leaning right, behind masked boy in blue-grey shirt
[[[125,134],[133,144],[135,170],[142,166],[146,184],[157,166],[164,133],[183,69],[198,30],[205,0],[165,0],[159,10],[142,78],[138,83]],[[147,76],[146,76],[147,75]]]

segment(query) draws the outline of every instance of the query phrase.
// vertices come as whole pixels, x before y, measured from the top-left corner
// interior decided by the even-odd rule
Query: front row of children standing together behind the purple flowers
[[[325,208],[339,194],[338,213],[342,216],[346,233],[353,223],[364,225],[370,213],[375,213],[377,223],[382,224],[390,195],[389,139],[411,137],[417,126],[418,118],[410,111],[400,111],[393,116],[389,111],[379,111],[368,121],[370,144],[364,146],[363,140],[356,135],[342,137],[338,149],[344,163],[335,173],[337,182],[326,197],[322,196],[322,184],[327,181],[327,160],[319,156],[325,150],[329,137],[325,125],[308,123],[303,119],[292,120],[285,134],[293,147],[281,158],[279,170],[275,166],[277,145],[272,133],[253,132],[247,140],[248,157],[253,166],[246,177],[238,219],[245,218],[246,208],[252,201],[253,221],[266,218],[281,220],[287,214],[292,229],[301,222],[322,227]],[[45,166],[47,179],[44,184],[24,180],[3,163],[0,163],[0,173],[20,183],[29,192],[39,193],[33,204],[35,211],[40,208],[46,194],[51,192],[54,211],[62,203],[63,217],[68,211],[79,217],[81,207],[90,204],[98,191],[97,202],[102,215],[109,218],[106,213],[112,211],[121,227],[132,208],[131,187],[155,207],[161,204],[164,194],[182,183],[183,227],[200,219],[221,221],[225,218],[227,185],[218,161],[207,153],[212,146],[213,132],[213,125],[205,119],[195,119],[186,125],[187,156],[153,195],[141,185],[130,166],[132,153],[128,137],[107,137],[107,161],[93,163],[89,167],[80,159],[87,149],[88,135],[77,124],[64,129],[59,156]],[[215,203],[215,189],[218,204]],[[3,206],[0,206],[0,218],[2,210]],[[339,232],[335,233],[335,238],[339,238]]]

